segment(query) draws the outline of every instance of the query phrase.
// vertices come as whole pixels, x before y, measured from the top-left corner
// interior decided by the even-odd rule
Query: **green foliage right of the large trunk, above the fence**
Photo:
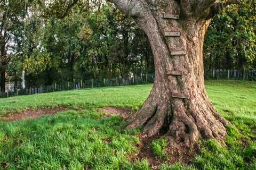
[[[253,1],[226,8],[216,16],[205,38],[204,58],[207,69],[255,67],[256,18]]]

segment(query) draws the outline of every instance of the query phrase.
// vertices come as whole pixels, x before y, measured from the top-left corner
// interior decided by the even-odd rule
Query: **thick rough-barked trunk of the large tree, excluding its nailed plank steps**
[[[143,126],[148,136],[163,135],[173,144],[186,146],[197,145],[198,139],[223,142],[228,123],[206,95],[203,67],[204,36],[211,17],[220,11],[219,1],[110,2],[130,14],[146,32],[155,60],[154,87],[127,128]],[[180,19],[164,19],[163,13],[179,14]],[[165,36],[174,31],[180,36]],[[171,55],[179,50],[186,55]],[[181,71],[182,75],[167,75],[168,71]],[[189,99],[174,98],[173,93],[187,94]]]

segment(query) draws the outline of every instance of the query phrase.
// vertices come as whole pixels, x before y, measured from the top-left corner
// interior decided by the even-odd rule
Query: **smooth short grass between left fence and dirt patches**
[[[94,88],[85,90],[70,90],[52,92],[49,94],[36,94],[18,96],[7,99],[0,98],[0,114],[8,112],[21,112],[26,108],[67,106],[77,109],[79,107],[99,108],[105,106],[138,107],[148,97],[152,85],[118,86],[114,88]],[[17,99],[17,103],[13,102]]]

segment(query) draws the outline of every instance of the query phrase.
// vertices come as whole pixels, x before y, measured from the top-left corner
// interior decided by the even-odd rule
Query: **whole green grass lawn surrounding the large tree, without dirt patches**
[[[146,84],[0,99],[2,116],[31,108],[70,108],[34,120],[0,121],[0,169],[151,169],[146,159],[131,160],[139,152],[139,130],[125,131],[121,117],[97,112],[106,106],[135,112],[151,88]],[[236,126],[228,128],[227,147],[204,141],[191,164],[158,168],[256,169],[256,82],[206,81],[206,90]],[[153,141],[151,147],[156,157],[168,159],[165,140]]]

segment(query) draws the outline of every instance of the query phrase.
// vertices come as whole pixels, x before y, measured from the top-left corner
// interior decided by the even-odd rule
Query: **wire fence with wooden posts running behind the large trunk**
[[[211,69],[205,70],[206,80],[249,80],[256,81],[256,70],[226,70],[226,69]],[[19,95],[33,95],[43,94],[54,91],[109,87],[109,86],[128,86],[137,84],[146,84],[154,82],[154,74],[140,74],[134,77],[116,77],[112,79],[90,79],[80,80],[76,82],[54,83],[51,86],[30,86],[22,89],[21,84],[17,86],[13,82],[6,85],[6,92],[0,92],[0,98],[19,96]]]

